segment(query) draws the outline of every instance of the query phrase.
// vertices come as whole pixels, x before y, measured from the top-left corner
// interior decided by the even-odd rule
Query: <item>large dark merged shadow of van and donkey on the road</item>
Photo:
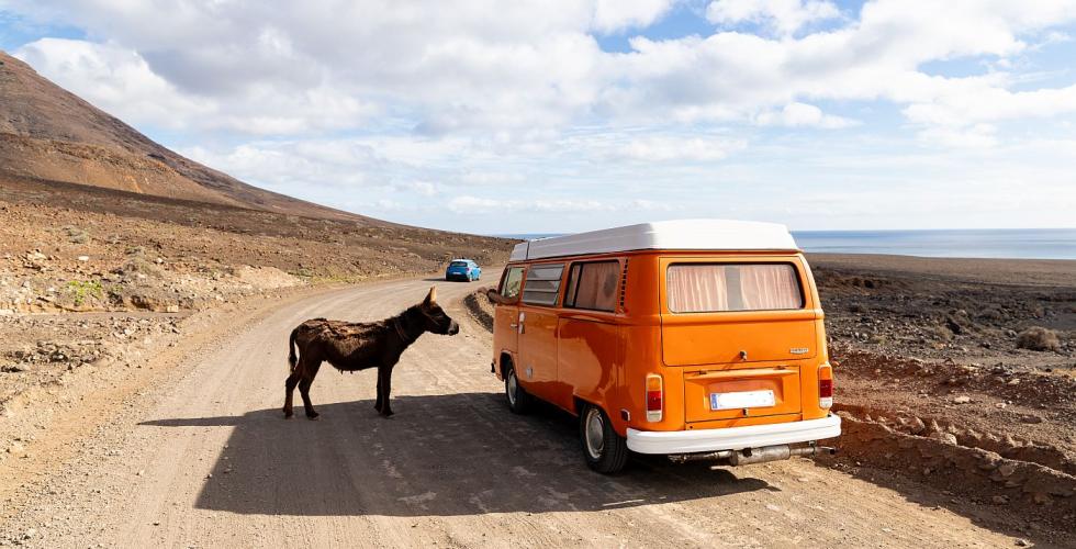
[[[238,514],[450,516],[602,511],[776,490],[706,464],[638,457],[618,477],[583,463],[575,419],[543,407],[512,415],[496,393],[318,406],[322,419],[279,410],[145,422],[234,427],[195,506]],[[299,411],[301,414],[301,411]]]

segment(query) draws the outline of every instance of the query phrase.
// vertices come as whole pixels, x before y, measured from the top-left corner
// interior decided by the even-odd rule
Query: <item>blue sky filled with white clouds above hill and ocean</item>
[[[0,48],[419,226],[1076,227],[1076,0],[0,0]]]

